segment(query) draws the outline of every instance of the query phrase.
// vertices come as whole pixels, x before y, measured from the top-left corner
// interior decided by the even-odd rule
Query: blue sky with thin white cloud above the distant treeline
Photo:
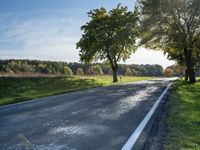
[[[0,59],[37,59],[78,62],[76,43],[87,12],[134,0],[0,0]],[[138,48],[126,64],[174,64],[161,51]]]

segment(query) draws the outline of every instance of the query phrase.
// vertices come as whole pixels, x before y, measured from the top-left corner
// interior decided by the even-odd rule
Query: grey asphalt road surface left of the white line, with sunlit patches
[[[0,108],[0,150],[117,150],[170,79],[73,92]]]

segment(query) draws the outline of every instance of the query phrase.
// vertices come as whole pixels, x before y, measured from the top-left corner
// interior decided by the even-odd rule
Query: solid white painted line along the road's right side
[[[174,81],[174,80],[173,80]],[[139,126],[135,129],[135,131],[132,133],[132,135],[129,137],[128,141],[125,143],[125,145],[122,147],[121,150],[131,150],[133,146],[135,145],[136,141],[138,140],[139,136],[141,135],[142,131],[146,127],[147,123],[149,122],[150,118],[152,117],[153,113],[155,112],[156,108],[158,107],[159,103],[161,102],[164,95],[167,93],[168,89],[172,85],[173,81],[167,86],[167,88],[164,90],[164,92],[160,95],[160,97],[156,100],[155,104],[151,108],[151,110],[148,112],[148,114],[144,117],[142,122],[139,124]]]

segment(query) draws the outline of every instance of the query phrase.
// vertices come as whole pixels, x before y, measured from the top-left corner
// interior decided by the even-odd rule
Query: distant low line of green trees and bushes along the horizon
[[[40,60],[0,60],[0,73],[42,73],[52,75],[112,75],[112,69],[106,63],[66,63]],[[161,65],[119,64],[118,75],[126,76],[163,76]]]

